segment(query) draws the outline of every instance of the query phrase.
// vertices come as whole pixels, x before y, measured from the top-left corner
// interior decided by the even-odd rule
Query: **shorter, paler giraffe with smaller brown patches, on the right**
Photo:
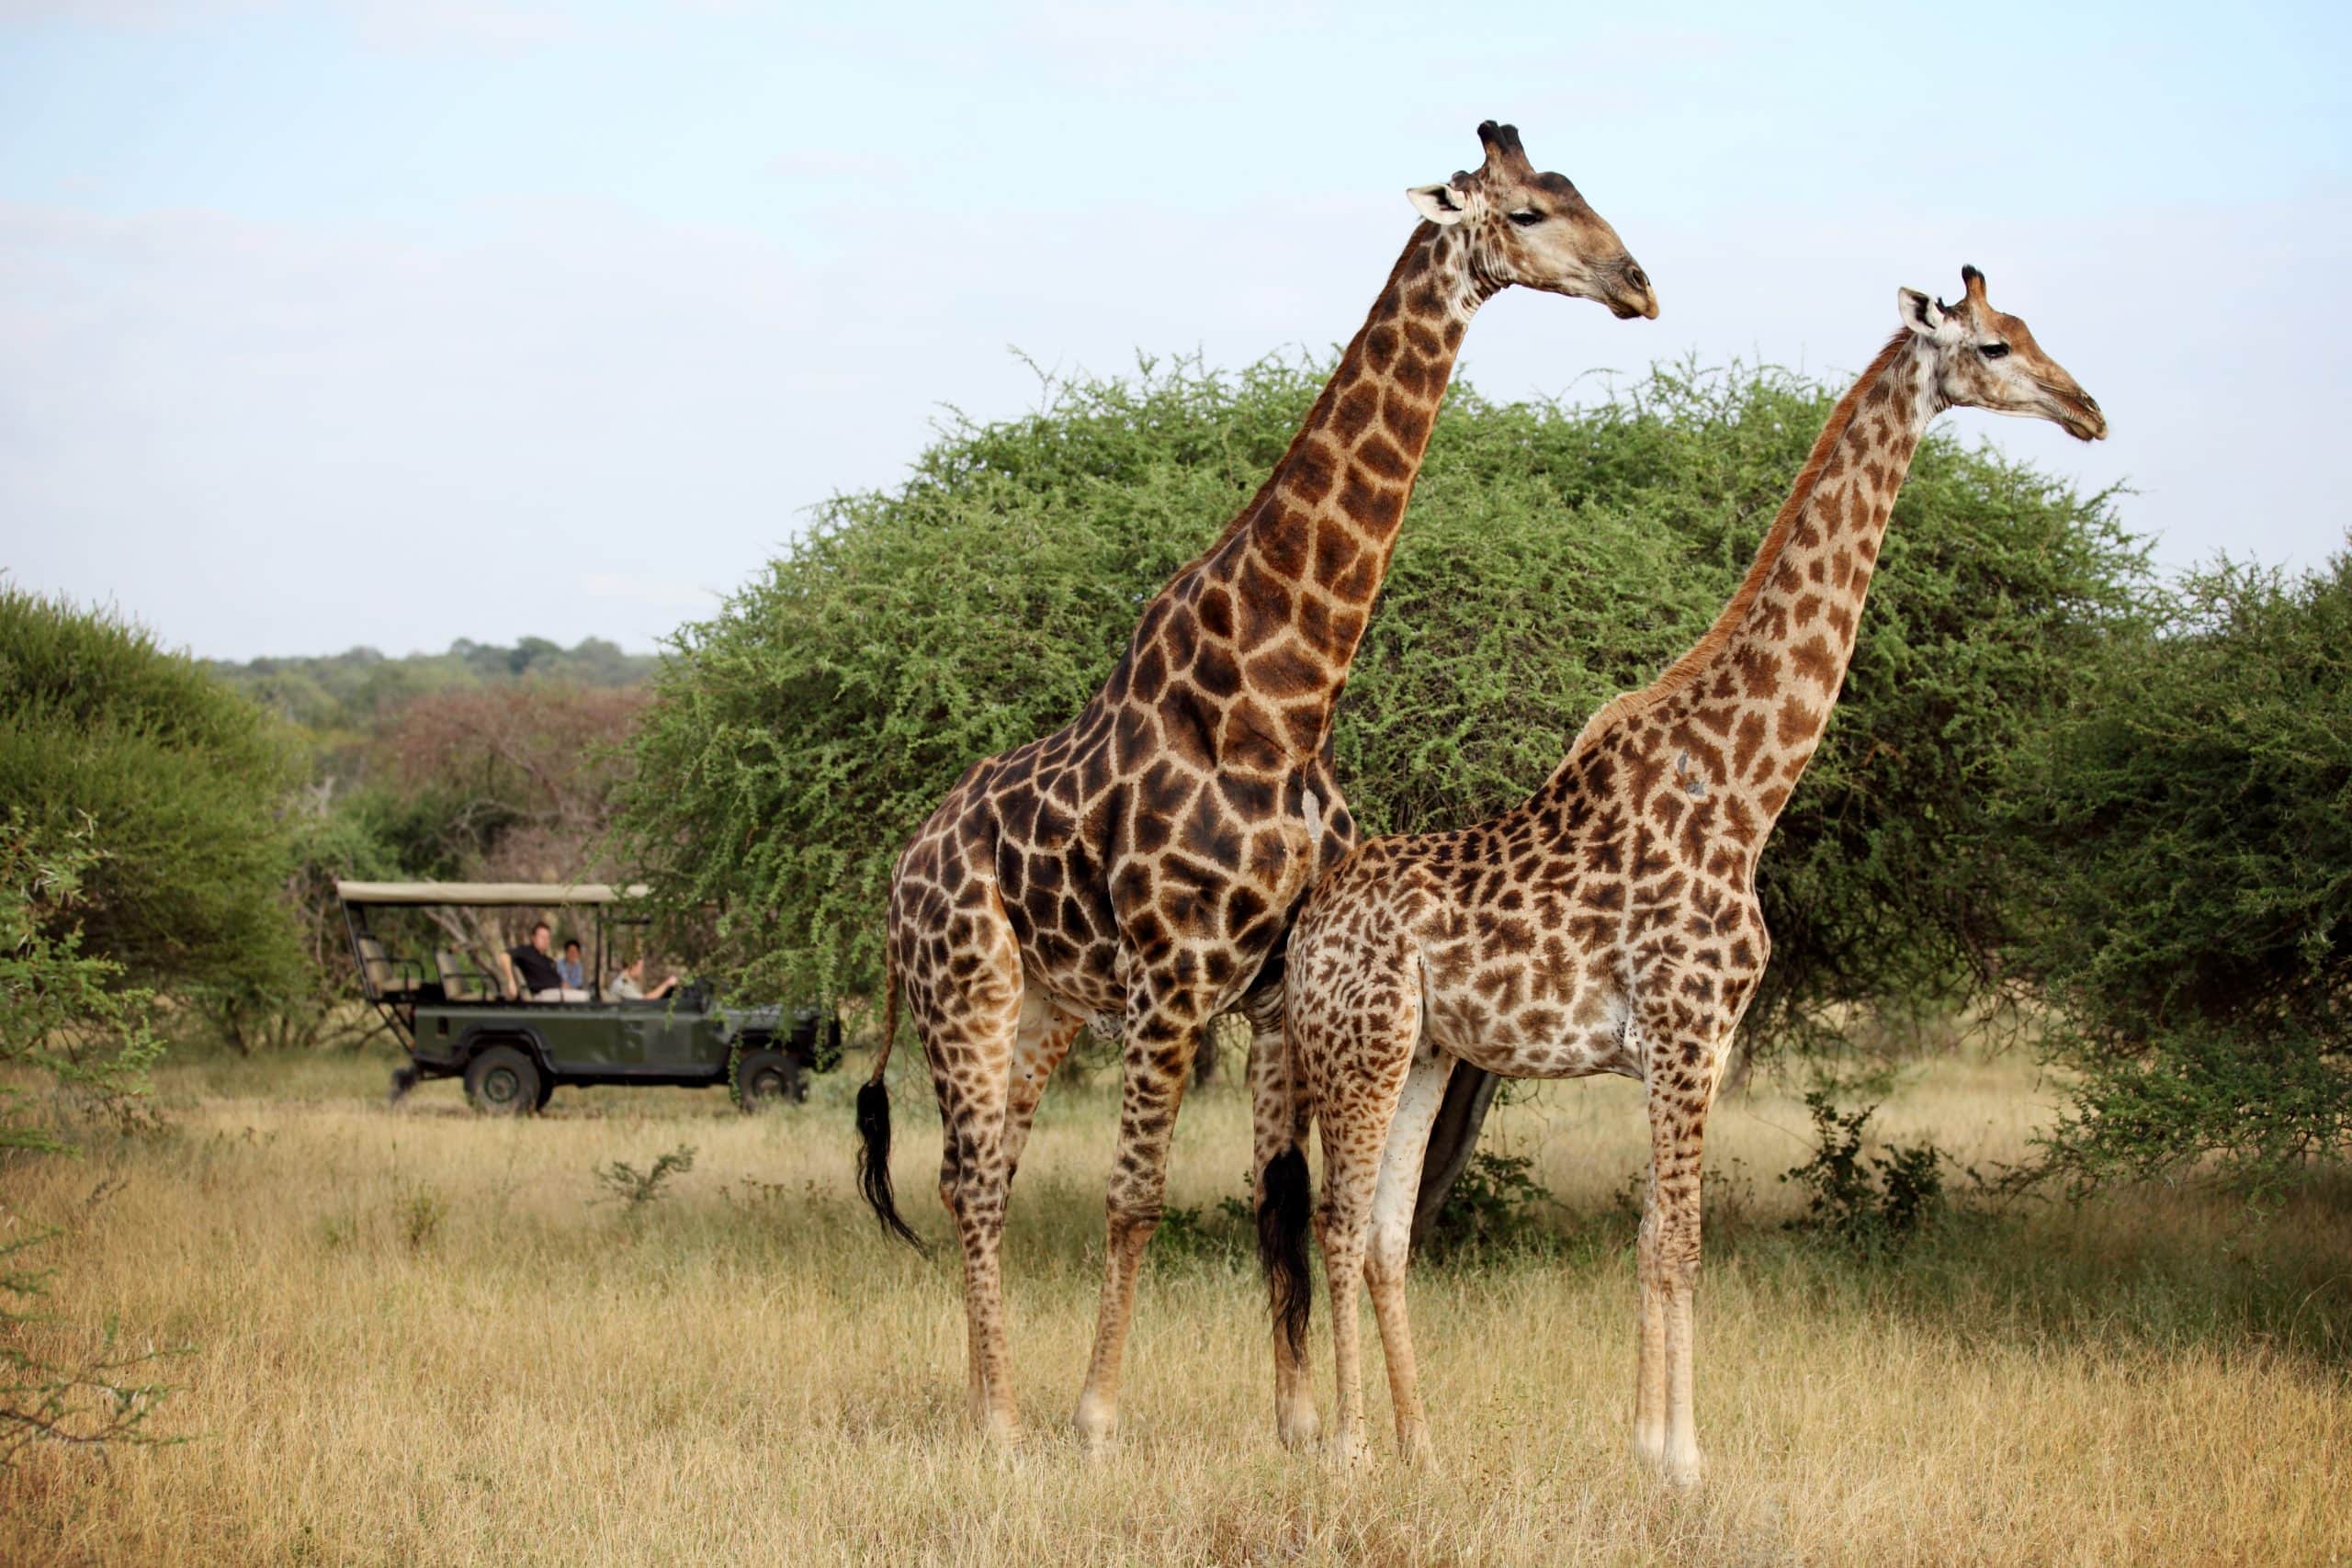
[[[1308,1121],[1322,1119],[1315,1215],[1331,1281],[1338,1453],[1364,1455],[1357,1286],[1371,1286],[1397,1446],[1428,1455],[1404,1265],[1430,1119],[1454,1063],[1505,1077],[1642,1079],[1651,1168],[1642,1206],[1635,1448],[1698,1476],[1691,1298],[1698,1173],[1771,938],[1757,853],[1837,703],[1886,517],[1929,421],[1947,407],[2107,421],[2013,315],[1903,289],[1903,329],[1830,414],[1748,578],[1698,646],[1585,724],[1526,804],[1458,832],[1374,839],[1308,898],[1291,931],[1287,1070],[1256,1077],[1261,1234],[1277,1309],[1277,1425],[1310,1420],[1305,1356]]]

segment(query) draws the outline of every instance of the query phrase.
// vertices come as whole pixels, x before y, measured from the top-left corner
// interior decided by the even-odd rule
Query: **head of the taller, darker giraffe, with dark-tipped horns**
[[[1477,127],[1486,162],[1442,186],[1406,190],[1439,228],[1461,228],[1472,266],[1496,284],[1576,294],[1609,306],[1618,320],[1658,317],[1658,294],[1609,221],[1585,205],[1564,174],[1526,162],[1519,132],[1489,120]]]

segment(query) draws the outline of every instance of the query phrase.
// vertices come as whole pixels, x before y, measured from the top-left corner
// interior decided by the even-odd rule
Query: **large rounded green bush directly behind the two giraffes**
[[[891,494],[842,496],[687,625],[635,741],[621,842],[706,954],[771,997],[870,990],[889,867],[978,757],[1065,724],[1141,604],[1258,487],[1324,367],[1145,364],[950,423]],[[1456,388],[1338,715],[1369,830],[1529,795],[1595,705],[1738,583],[1830,409],[1778,374],[1661,369],[1585,409]],[[1947,992],[1999,926],[2009,757],[2136,592],[2105,496],[1926,442],[1825,748],[1764,858],[1750,1011]]]

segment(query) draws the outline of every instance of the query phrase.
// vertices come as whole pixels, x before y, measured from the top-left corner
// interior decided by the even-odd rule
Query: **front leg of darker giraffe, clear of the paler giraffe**
[[[1120,1368],[1136,1312],[1136,1276],[1143,1269],[1143,1246],[1160,1227],[1169,1185],[1169,1138],[1176,1131],[1176,1110],[1192,1074],[1192,1046],[1202,1025],[1197,1016],[1164,1009],[1141,1016],[1138,1009],[1129,1009],[1127,1016],[1120,1152],[1105,1201],[1103,1300],[1096,1309],[1087,1385],[1070,1418],[1091,1450],[1108,1446],[1120,1425]]]

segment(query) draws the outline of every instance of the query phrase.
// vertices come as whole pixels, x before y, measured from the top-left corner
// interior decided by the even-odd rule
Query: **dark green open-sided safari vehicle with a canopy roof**
[[[630,889],[637,891],[637,889]],[[607,907],[621,898],[604,884],[527,882],[336,882],[350,959],[367,994],[409,1053],[393,1072],[393,1100],[423,1079],[466,1079],[475,1110],[529,1114],[557,1084],[680,1084],[727,1086],[746,1112],[809,1098],[809,1074],[840,1063],[840,1018],[776,1006],[717,1006],[710,985],[694,980],[659,1001],[621,1001],[602,990],[607,969]],[[588,910],[595,952],[586,971],[586,1001],[539,1001],[517,994],[503,947],[492,969],[468,954],[452,926],[437,919],[430,966],[386,945],[402,922],[390,910]]]

